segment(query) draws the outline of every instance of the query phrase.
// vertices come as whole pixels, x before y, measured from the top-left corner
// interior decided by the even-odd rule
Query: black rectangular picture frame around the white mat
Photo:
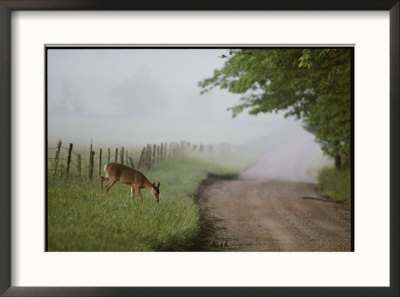
[[[11,12],[17,10],[384,10],[390,12],[389,287],[12,287]],[[0,293],[2,296],[399,296],[399,0],[2,0]],[[366,263],[368,265],[368,263]]]

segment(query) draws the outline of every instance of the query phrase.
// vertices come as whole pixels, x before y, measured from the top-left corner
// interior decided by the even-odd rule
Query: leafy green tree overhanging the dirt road
[[[284,110],[301,119],[339,168],[350,158],[351,57],[348,48],[235,49],[199,87],[243,94],[233,117]]]

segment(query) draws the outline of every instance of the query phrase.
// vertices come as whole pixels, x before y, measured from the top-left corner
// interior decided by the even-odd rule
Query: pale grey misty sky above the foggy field
[[[226,109],[239,95],[197,83],[223,65],[224,49],[53,49],[48,51],[49,141],[142,145],[187,140],[243,143],[271,131],[310,141],[282,115]],[[289,131],[289,132],[288,132]]]

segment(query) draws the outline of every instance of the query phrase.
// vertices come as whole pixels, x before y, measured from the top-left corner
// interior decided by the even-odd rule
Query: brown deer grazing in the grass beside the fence
[[[100,176],[100,189],[103,193],[103,181],[108,180],[106,185],[106,193],[110,188],[117,182],[121,182],[131,186],[131,198],[134,200],[135,192],[138,194],[140,201],[143,203],[143,197],[140,193],[140,189],[145,188],[150,191],[153,195],[155,202],[159,202],[158,196],[160,195],[160,183],[157,185],[155,183],[151,183],[143,173],[132,169],[128,166],[119,163],[107,163],[104,166],[105,176]]]

